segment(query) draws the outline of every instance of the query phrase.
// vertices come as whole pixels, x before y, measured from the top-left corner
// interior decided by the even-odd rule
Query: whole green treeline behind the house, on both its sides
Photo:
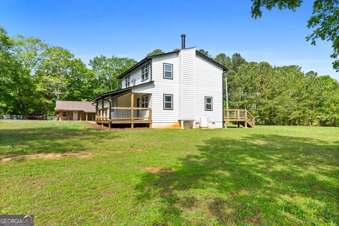
[[[230,69],[229,106],[249,109],[257,124],[339,125],[339,83],[330,76],[199,51]],[[35,37],[8,37],[0,27],[0,114],[54,115],[56,100],[86,101],[119,89],[117,76],[133,64],[134,59],[100,56],[87,67],[67,49]]]

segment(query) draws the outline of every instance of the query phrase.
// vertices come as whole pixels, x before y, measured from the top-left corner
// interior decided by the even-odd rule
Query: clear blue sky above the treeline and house
[[[306,42],[313,1],[296,12],[264,11],[251,18],[250,0],[30,1],[0,0],[0,25],[13,36],[39,37],[69,49],[88,63],[100,54],[140,60],[155,48],[186,47],[215,56],[239,52],[247,61],[297,64],[339,79],[332,69],[331,44]]]

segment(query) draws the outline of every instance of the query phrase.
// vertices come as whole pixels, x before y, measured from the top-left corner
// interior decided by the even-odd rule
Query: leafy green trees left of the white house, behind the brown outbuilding
[[[54,115],[56,100],[86,101],[120,88],[117,76],[136,61],[95,57],[88,69],[69,50],[0,27],[0,114]]]

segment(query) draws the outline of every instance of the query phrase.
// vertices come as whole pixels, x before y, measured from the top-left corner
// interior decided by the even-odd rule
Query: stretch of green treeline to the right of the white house
[[[304,73],[299,66],[247,62],[240,54],[214,59],[230,69],[230,108],[249,109],[256,124],[339,126],[339,83],[330,76]]]

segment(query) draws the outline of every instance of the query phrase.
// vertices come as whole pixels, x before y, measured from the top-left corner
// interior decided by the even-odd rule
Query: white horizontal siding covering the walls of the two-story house
[[[172,79],[164,79],[166,64],[172,64]],[[154,83],[133,88],[132,92],[140,96],[148,94],[148,107],[153,110],[153,127],[172,126],[179,120],[196,120],[199,123],[204,115],[208,117],[210,127],[222,127],[222,68],[196,55],[195,48],[153,57],[146,81],[142,81],[141,68],[129,73],[131,87],[149,82],[150,78]],[[136,78],[136,83],[132,82],[133,78]],[[164,94],[173,95],[172,110],[164,109]],[[206,97],[212,97],[207,110]]]

